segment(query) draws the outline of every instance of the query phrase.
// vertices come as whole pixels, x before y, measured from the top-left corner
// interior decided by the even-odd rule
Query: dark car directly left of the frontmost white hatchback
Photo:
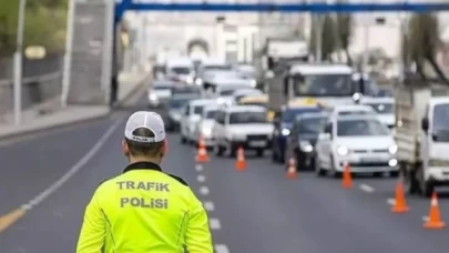
[[[328,117],[327,112],[317,112],[304,113],[295,119],[285,152],[295,159],[296,170],[315,166],[315,144]]]

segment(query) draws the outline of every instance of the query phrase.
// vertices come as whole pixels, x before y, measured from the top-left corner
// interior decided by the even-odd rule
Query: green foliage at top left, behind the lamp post
[[[48,53],[64,49],[67,0],[28,0],[24,47],[42,45]],[[19,1],[0,0],[0,57],[16,49]]]

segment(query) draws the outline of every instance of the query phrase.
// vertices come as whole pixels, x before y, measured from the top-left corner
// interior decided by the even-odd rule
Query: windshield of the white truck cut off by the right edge
[[[449,104],[438,104],[433,108],[432,140],[449,142]]]

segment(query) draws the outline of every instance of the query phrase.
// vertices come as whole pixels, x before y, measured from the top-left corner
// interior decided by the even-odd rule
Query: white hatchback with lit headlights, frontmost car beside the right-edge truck
[[[354,173],[398,173],[398,146],[391,131],[377,117],[330,118],[318,135],[315,171],[338,175],[345,164]]]

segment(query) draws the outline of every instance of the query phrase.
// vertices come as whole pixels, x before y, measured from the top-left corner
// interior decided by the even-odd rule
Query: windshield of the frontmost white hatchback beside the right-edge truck
[[[389,129],[376,119],[339,120],[338,136],[376,136],[388,135]]]

